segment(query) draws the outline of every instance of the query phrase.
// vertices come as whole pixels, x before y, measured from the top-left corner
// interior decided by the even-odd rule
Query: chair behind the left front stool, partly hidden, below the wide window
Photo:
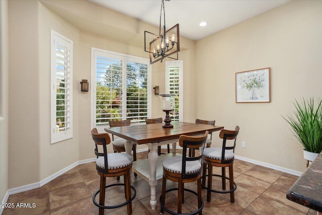
[[[121,121],[109,120],[110,127],[128,126],[130,124],[131,124],[131,120],[129,119],[121,120]],[[115,153],[125,152],[125,142],[126,140],[123,138],[114,139],[114,135],[112,134],[112,145]],[[136,144],[134,142],[133,142],[132,151],[133,151],[133,161],[136,161]],[[137,174],[134,173],[134,176],[136,177]],[[120,180],[120,177],[117,177],[117,180]]]

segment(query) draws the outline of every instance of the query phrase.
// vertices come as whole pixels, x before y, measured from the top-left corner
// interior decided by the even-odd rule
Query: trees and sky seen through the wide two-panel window
[[[121,63],[110,65],[104,81],[96,85],[96,124],[106,125],[108,120],[122,120],[122,71]],[[146,65],[127,64],[126,118],[132,122],[144,121],[147,116]]]

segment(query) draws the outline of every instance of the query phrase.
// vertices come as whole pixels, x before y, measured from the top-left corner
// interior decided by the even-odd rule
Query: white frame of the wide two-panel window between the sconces
[[[126,119],[126,65],[128,61],[135,61],[137,63],[143,63],[146,64],[148,67],[147,71],[147,76],[148,76],[148,81],[147,81],[147,118],[151,117],[151,65],[149,63],[149,59],[147,58],[142,58],[142,57],[137,57],[133,55],[128,55],[128,54],[122,54],[118,52],[113,52],[113,51],[108,51],[104,49],[99,49],[92,47],[91,50],[91,129],[94,127],[97,128],[97,130],[100,132],[104,132],[104,128],[107,127],[108,125],[96,125],[96,56],[98,53],[104,54],[106,57],[111,57],[113,59],[119,59],[122,60],[123,66],[122,66],[122,120]],[[125,114],[124,114],[125,113]],[[135,124],[143,124],[141,123],[135,123]]]

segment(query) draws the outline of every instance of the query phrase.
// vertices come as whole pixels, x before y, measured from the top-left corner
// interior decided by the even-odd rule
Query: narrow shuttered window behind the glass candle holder
[[[183,120],[183,65],[181,60],[166,61],[166,93],[175,94],[175,108],[170,112],[173,121]]]

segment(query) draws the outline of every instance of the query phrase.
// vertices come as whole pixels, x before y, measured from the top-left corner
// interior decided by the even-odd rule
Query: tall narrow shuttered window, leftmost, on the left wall
[[[72,138],[72,45],[51,30],[51,144]]]

